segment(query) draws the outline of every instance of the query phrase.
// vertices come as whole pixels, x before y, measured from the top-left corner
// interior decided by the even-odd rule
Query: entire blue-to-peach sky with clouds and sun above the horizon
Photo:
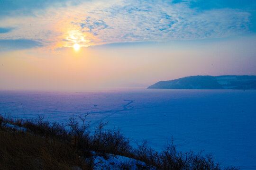
[[[256,75],[255,44],[255,0],[0,0],[0,89]]]

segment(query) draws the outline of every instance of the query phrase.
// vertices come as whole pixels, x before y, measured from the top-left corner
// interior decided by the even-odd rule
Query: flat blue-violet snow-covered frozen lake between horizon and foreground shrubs
[[[92,126],[109,122],[133,143],[146,139],[161,151],[174,138],[179,151],[204,150],[223,166],[256,170],[255,90],[0,91],[0,113],[60,122],[89,113]]]

